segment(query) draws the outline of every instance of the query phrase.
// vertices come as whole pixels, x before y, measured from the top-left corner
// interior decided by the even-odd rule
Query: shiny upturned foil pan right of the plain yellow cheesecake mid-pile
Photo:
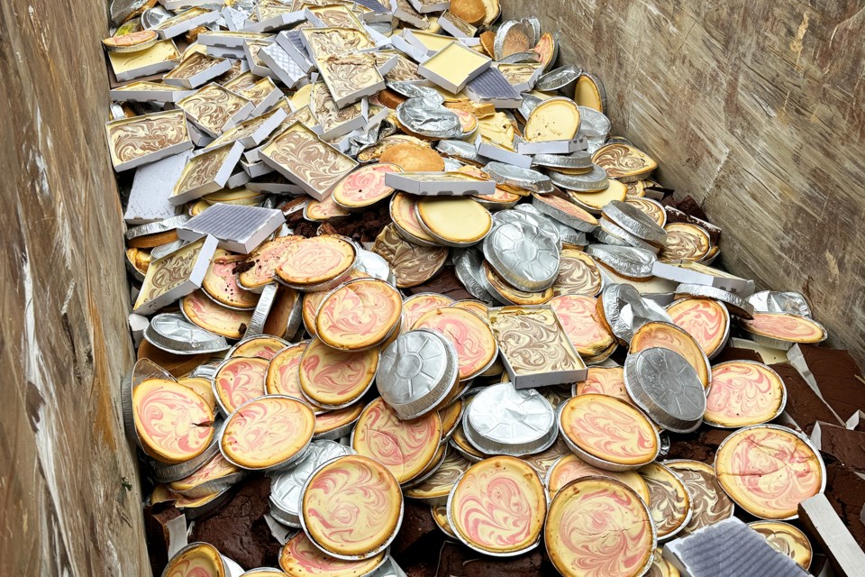
[[[528,223],[506,223],[484,240],[484,256],[516,289],[549,289],[559,276],[559,247],[549,234]]]

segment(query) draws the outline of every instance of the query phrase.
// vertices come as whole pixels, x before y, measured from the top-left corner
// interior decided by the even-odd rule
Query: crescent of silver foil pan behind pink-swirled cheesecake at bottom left
[[[280,518],[291,521],[291,527],[300,527],[300,499],[304,483],[324,463],[347,454],[354,454],[351,447],[334,441],[313,441],[303,459],[287,472],[272,477],[270,504],[278,508]]]

